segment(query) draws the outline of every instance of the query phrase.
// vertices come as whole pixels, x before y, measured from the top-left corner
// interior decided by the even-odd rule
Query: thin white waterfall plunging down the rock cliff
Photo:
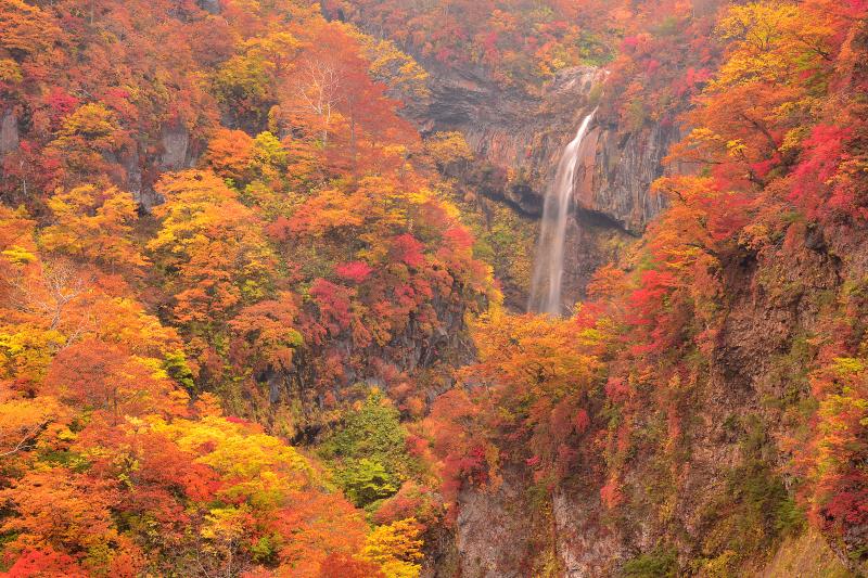
[[[560,316],[563,312],[561,284],[566,219],[570,214],[570,201],[573,197],[576,165],[582,153],[582,141],[585,140],[596,113],[595,108],[582,120],[576,138],[563,150],[554,181],[546,191],[542,222],[534,261],[534,278],[531,284],[531,298],[527,303],[528,311],[551,316]]]

